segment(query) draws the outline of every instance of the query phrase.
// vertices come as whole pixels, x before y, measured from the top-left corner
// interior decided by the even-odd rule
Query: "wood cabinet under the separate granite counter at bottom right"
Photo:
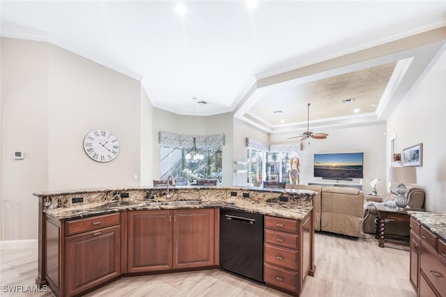
[[[416,234],[412,229],[412,220],[410,283],[417,291],[417,296],[446,297],[446,243],[424,226],[420,227],[420,234]]]

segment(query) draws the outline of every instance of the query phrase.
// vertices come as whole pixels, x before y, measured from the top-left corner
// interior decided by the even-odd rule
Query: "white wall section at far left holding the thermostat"
[[[37,238],[32,193],[48,187],[48,54],[47,43],[1,38],[1,240]]]

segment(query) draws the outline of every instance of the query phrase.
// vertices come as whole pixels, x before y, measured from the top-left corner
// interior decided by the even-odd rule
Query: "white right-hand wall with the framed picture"
[[[417,183],[426,190],[426,211],[446,213],[446,47],[387,120],[397,149],[423,144]]]

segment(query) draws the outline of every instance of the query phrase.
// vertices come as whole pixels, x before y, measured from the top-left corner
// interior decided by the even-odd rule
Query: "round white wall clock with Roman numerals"
[[[118,156],[119,141],[112,132],[93,130],[85,135],[84,151],[95,161],[109,162]]]

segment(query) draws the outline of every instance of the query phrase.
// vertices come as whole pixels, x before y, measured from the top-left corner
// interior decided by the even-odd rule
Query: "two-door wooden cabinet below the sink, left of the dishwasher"
[[[213,265],[214,208],[128,213],[128,273]]]

